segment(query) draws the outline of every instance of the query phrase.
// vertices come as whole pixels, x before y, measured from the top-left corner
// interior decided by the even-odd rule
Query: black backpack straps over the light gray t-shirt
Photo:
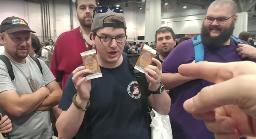
[[[36,64],[38,65],[42,75],[43,75],[43,70],[42,70],[42,66],[40,64],[40,61],[39,59],[37,59],[36,57],[33,57],[31,55],[29,55],[31,59],[33,59]],[[15,79],[15,75],[14,75],[14,72],[13,72],[13,69],[12,69],[12,64],[11,64],[11,61],[5,56],[5,55],[0,55],[0,60],[2,60],[6,67],[7,67],[7,70],[8,70],[8,73],[9,73],[9,76],[11,77],[12,81]]]

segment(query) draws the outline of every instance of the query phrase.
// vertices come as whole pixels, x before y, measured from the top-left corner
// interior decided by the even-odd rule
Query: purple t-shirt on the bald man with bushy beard
[[[216,51],[209,51],[204,46],[204,60],[209,62],[234,62],[242,59],[236,52],[236,44],[231,39],[231,44],[223,46]],[[191,63],[195,59],[192,40],[185,40],[175,47],[162,63],[163,73],[178,73],[181,64]],[[215,139],[203,120],[196,120],[192,114],[186,112],[183,103],[195,96],[205,86],[213,83],[205,80],[192,80],[170,90],[171,109],[169,112],[172,125],[173,139]]]

